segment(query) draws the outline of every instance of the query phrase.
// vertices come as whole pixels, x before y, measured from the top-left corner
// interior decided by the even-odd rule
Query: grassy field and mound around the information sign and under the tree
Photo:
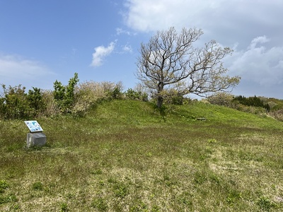
[[[23,122],[0,121],[0,211],[283,210],[283,123],[269,117],[115,100],[37,121],[48,145],[30,151]]]

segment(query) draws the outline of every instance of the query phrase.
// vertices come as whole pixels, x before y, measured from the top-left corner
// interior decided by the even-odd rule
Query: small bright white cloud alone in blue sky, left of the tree
[[[91,63],[91,66],[101,66],[103,64],[103,59],[113,52],[115,44],[116,41],[110,42],[108,47],[99,46],[94,48],[93,61]]]

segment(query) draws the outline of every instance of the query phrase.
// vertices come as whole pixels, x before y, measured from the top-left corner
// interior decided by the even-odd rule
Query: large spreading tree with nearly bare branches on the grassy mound
[[[232,49],[220,47],[215,40],[202,48],[192,46],[202,34],[202,30],[186,28],[178,34],[171,27],[158,31],[147,44],[141,43],[137,78],[152,91],[157,107],[170,90],[204,97],[239,83],[240,77],[225,75],[228,70],[221,61]]]

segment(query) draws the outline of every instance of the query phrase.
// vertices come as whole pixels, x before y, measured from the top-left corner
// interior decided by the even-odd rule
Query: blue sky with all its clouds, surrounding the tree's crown
[[[77,72],[134,88],[141,42],[174,26],[234,49],[233,94],[283,99],[282,11],[281,0],[0,0],[0,84],[53,89]]]

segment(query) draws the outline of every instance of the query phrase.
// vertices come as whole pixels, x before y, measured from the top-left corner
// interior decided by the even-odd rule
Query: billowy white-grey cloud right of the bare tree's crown
[[[231,73],[245,81],[271,87],[283,83],[283,47],[266,47],[271,40],[255,37],[246,50],[237,50],[226,60]]]

